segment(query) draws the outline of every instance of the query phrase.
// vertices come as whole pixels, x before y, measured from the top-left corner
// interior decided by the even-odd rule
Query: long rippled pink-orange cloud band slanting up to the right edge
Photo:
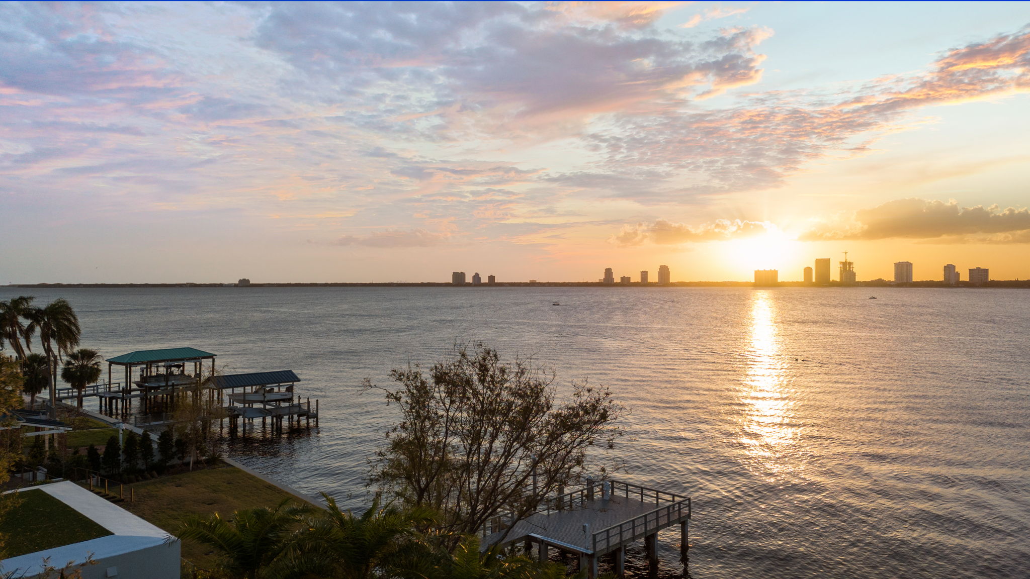
[[[746,75],[742,81],[748,82]],[[1030,27],[949,50],[921,74],[880,78],[832,95],[757,93],[728,108],[626,112],[585,138],[610,168],[694,176],[693,182],[684,179],[682,195],[755,191],[783,185],[805,163],[867,151],[916,109],[1026,91]]]

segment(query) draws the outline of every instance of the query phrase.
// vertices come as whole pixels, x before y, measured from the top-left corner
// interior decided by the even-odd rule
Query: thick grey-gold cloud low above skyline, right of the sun
[[[821,224],[804,240],[939,239],[981,242],[1030,241],[1030,209],[997,205],[961,207],[957,201],[896,199],[871,209],[860,209],[835,224]],[[948,241],[948,240],[946,240]]]

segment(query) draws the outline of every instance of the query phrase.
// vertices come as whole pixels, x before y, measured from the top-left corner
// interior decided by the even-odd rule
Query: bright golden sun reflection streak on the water
[[[755,292],[751,302],[749,363],[744,376],[741,442],[766,471],[784,473],[801,468],[797,459],[798,428],[793,417],[793,389],[776,322],[776,304],[768,292]]]

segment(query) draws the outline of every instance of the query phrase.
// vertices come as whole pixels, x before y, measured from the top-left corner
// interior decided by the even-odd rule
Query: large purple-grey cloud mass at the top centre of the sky
[[[268,7],[256,42],[327,98],[340,90],[411,97],[366,107],[369,123],[417,120],[436,132],[488,134],[519,134],[528,125],[570,134],[595,114],[666,107],[759,78],[754,48],[767,31],[692,42],[652,26],[667,7],[283,3]]]

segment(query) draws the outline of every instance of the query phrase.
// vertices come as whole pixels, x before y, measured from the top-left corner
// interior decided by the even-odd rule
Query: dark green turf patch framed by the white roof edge
[[[19,492],[19,505],[0,518],[8,557],[112,535],[42,490]]]

